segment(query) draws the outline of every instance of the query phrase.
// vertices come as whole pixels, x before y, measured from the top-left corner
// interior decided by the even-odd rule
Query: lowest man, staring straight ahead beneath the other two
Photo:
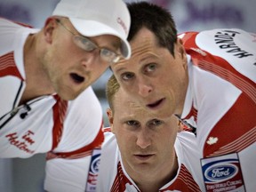
[[[196,137],[177,132],[175,116],[141,108],[111,76],[108,120],[97,191],[200,191],[203,188]]]

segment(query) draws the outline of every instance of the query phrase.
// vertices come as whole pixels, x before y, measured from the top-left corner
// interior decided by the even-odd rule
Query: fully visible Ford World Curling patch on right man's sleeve
[[[236,153],[201,159],[206,191],[244,192],[244,180]]]

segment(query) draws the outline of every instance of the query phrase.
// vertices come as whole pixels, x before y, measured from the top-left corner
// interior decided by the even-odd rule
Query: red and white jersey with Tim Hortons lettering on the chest
[[[26,87],[23,46],[38,30],[4,19],[0,28],[0,158],[47,153],[44,188],[84,191],[92,150],[103,141],[99,100],[89,87],[76,100],[53,94],[19,106]]]

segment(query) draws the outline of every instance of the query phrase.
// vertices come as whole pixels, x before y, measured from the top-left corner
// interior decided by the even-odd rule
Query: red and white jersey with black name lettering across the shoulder
[[[189,84],[181,119],[196,127],[207,191],[256,188],[256,34],[214,29],[180,35]]]

